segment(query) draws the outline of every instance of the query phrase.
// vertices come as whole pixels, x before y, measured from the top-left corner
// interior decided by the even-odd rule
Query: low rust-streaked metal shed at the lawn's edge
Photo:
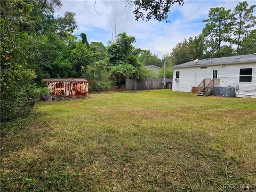
[[[44,78],[45,87],[54,96],[88,97],[88,81],[83,78]]]

